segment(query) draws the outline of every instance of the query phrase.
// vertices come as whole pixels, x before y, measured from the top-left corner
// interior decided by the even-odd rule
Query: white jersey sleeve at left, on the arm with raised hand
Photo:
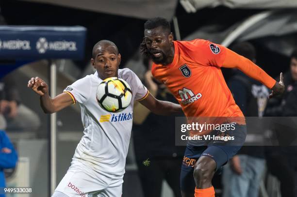
[[[73,84],[67,86],[63,92],[69,94],[73,100],[73,104],[85,103],[90,97],[91,80],[88,76],[75,81]]]

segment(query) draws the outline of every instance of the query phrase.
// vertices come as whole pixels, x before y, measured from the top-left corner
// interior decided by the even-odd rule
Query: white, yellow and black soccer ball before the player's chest
[[[124,79],[110,77],[99,84],[96,99],[106,111],[119,112],[130,105],[132,90]]]

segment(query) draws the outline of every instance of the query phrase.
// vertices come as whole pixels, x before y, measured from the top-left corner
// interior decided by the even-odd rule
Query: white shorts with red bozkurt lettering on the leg
[[[63,194],[66,197],[121,197],[122,184],[122,176],[115,179],[75,162],[69,167],[52,197],[65,197]]]

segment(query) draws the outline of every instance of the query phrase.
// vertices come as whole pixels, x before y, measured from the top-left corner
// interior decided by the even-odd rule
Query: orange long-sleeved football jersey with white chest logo
[[[248,76],[262,81],[269,88],[275,83],[261,68],[222,45],[202,39],[173,42],[175,53],[172,63],[153,63],[151,72],[165,83],[187,117],[244,116],[223,77],[221,67],[225,61],[229,66],[223,67],[243,68],[241,70]]]

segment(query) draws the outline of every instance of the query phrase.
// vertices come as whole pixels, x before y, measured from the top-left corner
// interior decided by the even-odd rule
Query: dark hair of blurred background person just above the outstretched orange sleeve
[[[231,50],[249,59],[250,61],[253,61],[256,59],[256,49],[249,42],[236,43],[231,47]]]

